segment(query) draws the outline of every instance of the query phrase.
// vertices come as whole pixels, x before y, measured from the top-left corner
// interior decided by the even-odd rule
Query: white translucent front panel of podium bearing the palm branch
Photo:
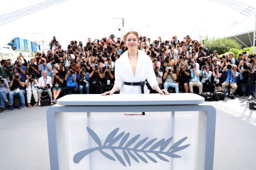
[[[67,117],[69,169],[194,169],[195,117]]]

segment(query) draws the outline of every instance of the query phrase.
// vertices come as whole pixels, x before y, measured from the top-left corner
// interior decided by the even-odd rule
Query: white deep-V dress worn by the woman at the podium
[[[128,51],[124,52],[115,63],[114,86],[119,87],[120,94],[141,94],[141,86],[130,86],[123,83],[137,83],[145,80],[147,80],[152,89],[155,85],[158,85],[151,58],[145,52],[138,50],[138,61],[134,77]],[[150,93],[146,85],[144,86],[144,93]]]

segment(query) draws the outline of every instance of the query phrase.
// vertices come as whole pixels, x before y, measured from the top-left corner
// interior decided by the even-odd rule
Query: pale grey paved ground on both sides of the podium
[[[256,110],[248,109],[247,99],[208,102],[217,109],[216,170],[254,170],[256,167]],[[37,106],[0,113],[1,170],[50,169],[46,126],[48,108]]]

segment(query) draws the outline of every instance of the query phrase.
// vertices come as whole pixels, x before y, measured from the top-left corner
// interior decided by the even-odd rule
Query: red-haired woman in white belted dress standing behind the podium
[[[150,90],[145,86],[145,80],[160,94],[169,94],[165,89],[161,90],[159,88],[150,57],[137,49],[139,43],[138,33],[134,31],[127,33],[125,42],[128,50],[116,61],[115,85],[112,90],[106,91],[101,95],[112,95],[119,90],[120,94],[149,93]],[[142,83],[139,84],[139,82]],[[134,86],[135,83],[138,83],[138,85]]]

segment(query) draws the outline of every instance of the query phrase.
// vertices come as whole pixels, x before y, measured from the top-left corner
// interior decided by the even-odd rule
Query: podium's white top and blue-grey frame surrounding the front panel
[[[74,113],[74,115],[76,115],[76,113],[86,112],[87,118],[90,119],[91,113],[93,112],[123,113],[142,111],[170,112],[170,116],[173,118],[175,118],[175,112],[198,111],[196,169],[213,169],[216,109],[211,105],[205,104],[204,98],[201,96],[191,93],[173,93],[170,95],[114,94],[112,96],[101,96],[100,94],[72,94],[64,96],[58,100],[56,105],[47,110],[47,128],[51,169],[69,169],[68,147],[65,131],[65,118],[67,117],[66,113]],[[123,119],[127,117],[137,116],[123,116]],[[141,115],[140,118],[143,119],[143,116]],[[87,131],[88,133],[93,132],[90,127],[87,128]],[[90,133],[90,135],[98,144],[100,143],[99,140],[97,140],[97,134],[95,135],[93,132]],[[185,139],[182,139],[182,141],[184,140]],[[99,145],[101,145],[101,143]],[[186,147],[184,147],[184,149]],[[177,148],[177,150],[181,149],[183,148]],[[108,154],[106,154],[105,157],[108,157]],[[127,155],[125,158],[127,158]],[[150,158],[152,161],[155,160],[151,159],[151,157],[148,158]],[[158,158],[161,159],[162,157]],[[109,159],[114,158],[109,157]],[[120,161],[118,154],[117,159]],[[164,160],[164,158],[161,160]]]

